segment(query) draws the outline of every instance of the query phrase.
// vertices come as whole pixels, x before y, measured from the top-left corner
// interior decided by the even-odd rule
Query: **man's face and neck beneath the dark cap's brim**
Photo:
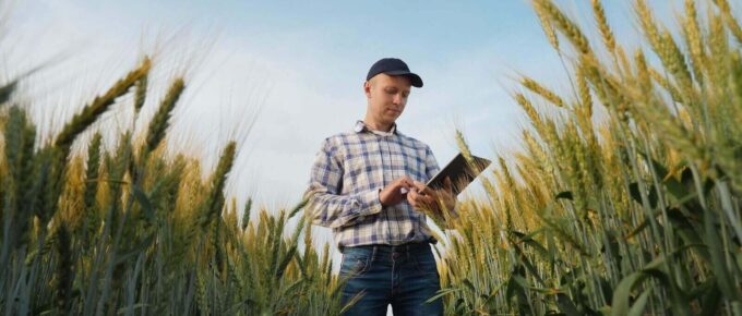
[[[380,73],[363,84],[369,100],[367,117],[376,124],[391,127],[407,105],[411,82],[406,76]]]

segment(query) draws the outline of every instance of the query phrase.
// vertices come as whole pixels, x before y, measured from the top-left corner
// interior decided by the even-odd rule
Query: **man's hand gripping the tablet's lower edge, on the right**
[[[443,181],[443,189],[440,190],[432,190],[418,181],[412,182],[412,190],[407,194],[407,202],[417,210],[431,216],[440,216],[443,211],[441,206],[447,210],[456,206],[456,197],[448,178]]]

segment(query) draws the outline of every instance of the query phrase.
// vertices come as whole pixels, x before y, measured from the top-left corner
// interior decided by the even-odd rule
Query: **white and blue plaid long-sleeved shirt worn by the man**
[[[427,182],[439,170],[430,147],[396,131],[371,131],[358,121],[350,133],[324,141],[312,166],[307,214],[330,227],[338,247],[434,242],[426,215],[407,199],[383,207],[380,191],[408,175]]]

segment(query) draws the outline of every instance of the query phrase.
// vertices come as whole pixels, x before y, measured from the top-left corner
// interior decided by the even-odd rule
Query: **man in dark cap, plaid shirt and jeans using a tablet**
[[[352,132],[324,141],[304,197],[314,224],[333,229],[343,253],[343,303],[361,293],[347,315],[442,315],[440,278],[426,220],[447,227],[455,196],[424,185],[439,170],[428,145],[397,130],[419,75],[394,58],[374,63],[363,83],[366,118]],[[453,217],[452,217],[453,215]]]

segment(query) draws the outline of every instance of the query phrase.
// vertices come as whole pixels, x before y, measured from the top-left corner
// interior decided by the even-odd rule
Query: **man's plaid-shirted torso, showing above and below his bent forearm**
[[[340,195],[379,190],[404,175],[426,182],[438,172],[430,148],[398,132],[379,135],[369,130],[357,130],[334,135],[327,141],[336,148],[333,153],[337,155],[335,158],[342,161]],[[334,229],[335,240],[338,246],[432,241],[426,220],[422,212],[403,200],[362,218],[354,226]]]

